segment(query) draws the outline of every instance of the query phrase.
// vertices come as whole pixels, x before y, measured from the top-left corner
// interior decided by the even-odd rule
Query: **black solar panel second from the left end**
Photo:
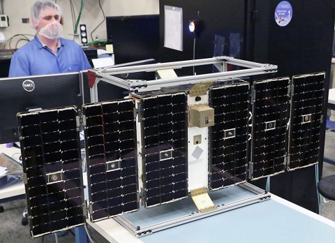
[[[133,100],[84,105],[83,112],[91,221],[137,211]]]

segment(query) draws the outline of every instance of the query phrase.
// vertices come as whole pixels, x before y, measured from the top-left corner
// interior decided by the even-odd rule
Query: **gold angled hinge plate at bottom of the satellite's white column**
[[[195,206],[202,213],[216,209],[216,206],[207,193],[207,189],[204,187],[191,191],[191,198]]]

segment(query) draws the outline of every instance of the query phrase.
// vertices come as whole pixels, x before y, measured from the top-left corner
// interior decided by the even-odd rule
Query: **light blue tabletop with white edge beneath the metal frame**
[[[87,220],[87,223],[109,242],[124,243],[221,242],[223,232],[227,242],[269,242],[271,239],[271,242],[276,243],[318,240],[330,243],[334,242],[335,237],[334,221],[275,195],[264,202],[184,223],[141,238],[136,238],[114,219],[96,223]],[[244,228],[244,234],[237,235],[240,224],[248,227]],[[222,228],[223,231],[213,228]],[[262,235],[258,230],[262,230]]]

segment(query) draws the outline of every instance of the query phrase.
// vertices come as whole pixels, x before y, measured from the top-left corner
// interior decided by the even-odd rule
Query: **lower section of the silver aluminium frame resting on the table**
[[[143,237],[146,235],[151,235],[152,233],[158,232],[160,230],[165,230],[167,228],[172,228],[174,226],[179,226],[183,223],[189,223],[198,219],[207,218],[208,216],[213,216],[216,214],[221,214],[223,212],[230,211],[232,209],[237,209],[239,207],[244,207],[247,205],[251,205],[255,202],[263,202],[265,200],[269,200],[271,198],[271,193],[264,191],[257,186],[253,186],[249,183],[239,184],[242,188],[255,193],[255,196],[251,196],[248,198],[244,198],[242,200],[237,200],[235,202],[230,202],[226,205],[216,205],[218,206],[216,209],[211,210],[209,212],[201,213],[199,211],[189,212],[189,214],[185,214],[183,216],[170,219],[168,221],[161,221],[159,223],[153,224],[151,226],[147,226],[141,228],[140,226],[135,226],[131,221],[126,219],[124,216],[115,217],[115,221],[124,226],[127,230],[135,235],[135,237]]]

